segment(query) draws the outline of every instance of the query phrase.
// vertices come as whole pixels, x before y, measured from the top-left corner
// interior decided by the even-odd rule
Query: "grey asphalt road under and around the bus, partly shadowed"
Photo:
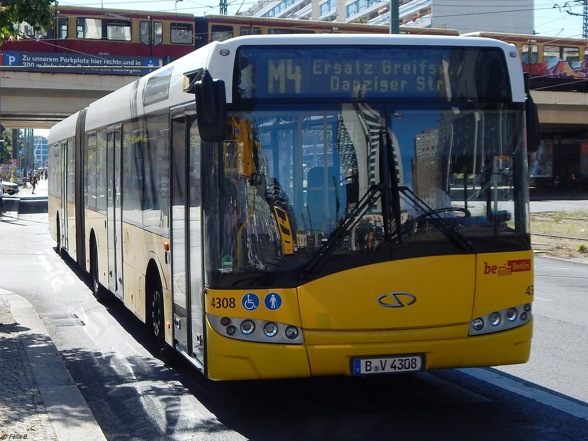
[[[525,365],[211,382],[181,360],[165,366],[118,300],[96,302],[55,253],[46,215],[0,222],[0,243],[0,287],[45,317],[109,440],[588,439],[588,265],[535,259]]]

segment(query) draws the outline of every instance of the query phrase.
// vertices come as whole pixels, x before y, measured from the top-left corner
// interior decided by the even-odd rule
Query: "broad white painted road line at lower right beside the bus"
[[[495,372],[482,368],[467,368],[457,369],[460,372],[466,373],[467,375],[476,377],[477,379],[488,382],[492,385],[502,387],[509,392],[515,392],[518,395],[530,398],[544,405],[553,407],[554,409],[561,410],[562,412],[569,413],[570,415],[582,418],[588,421],[588,406],[580,405],[579,403],[567,400],[565,398],[552,395],[541,389],[535,387],[526,386],[523,383],[516,382],[509,378],[498,375]]]

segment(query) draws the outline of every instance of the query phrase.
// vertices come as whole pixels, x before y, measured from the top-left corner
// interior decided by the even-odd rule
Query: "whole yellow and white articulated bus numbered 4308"
[[[524,363],[536,106],[495,39],[212,42],[49,135],[49,228],[216,380]]]

